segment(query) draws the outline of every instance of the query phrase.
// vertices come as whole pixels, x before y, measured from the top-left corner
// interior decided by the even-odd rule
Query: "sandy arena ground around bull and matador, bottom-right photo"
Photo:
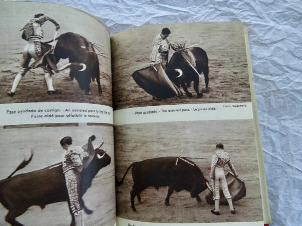
[[[205,195],[198,203],[187,191],[175,192],[170,206],[164,200],[168,188],[158,191],[149,187],[141,193],[142,203],[135,198],[137,212],[132,211],[130,191],[133,185],[131,170],[124,183],[116,188],[117,216],[144,222],[160,223],[207,223],[262,221],[262,204],[259,188],[254,127],[252,120],[190,121],[172,123],[132,124],[115,127],[116,175],[120,180],[128,166],[136,161],[163,156],[179,156],[182,149],[185,156],[207,157],[207,160],[192,159],[210,180],[212,152],[218,142],[231,156],[239,178],[243,179],[247,195],[234,203],[236,215],[229,207],[220,205],[220,216],[213,215]],[[228,171],[225,167],[225,172]]]

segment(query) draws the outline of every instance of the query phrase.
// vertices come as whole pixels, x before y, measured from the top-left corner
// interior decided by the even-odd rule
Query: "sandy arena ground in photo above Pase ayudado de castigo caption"
[[[78,82],[70,80],[69,70],[59,72],[53,76],[53,86],[62,91],[58,95],[48,95],[47,86],[42,68],[31,69],[21,80],[14,97],[9,97],[7,92],[11,89],[13,80],[20,68],[22,51],[27,41],[21,38],[20,29],[37,13],[45,12],[45,4],[1,3],[0,28],[0,100],[1,103],[24,103],[24,102],[83,102],[112,106],[111,88],[111,59],[110,59],[110,37],[105,27],[87,14],[78,10],[62,8],[56,4],[47,5],[48,16],[60,23],[57,37],[66,32],[74,32],[87,38],[87,40],[103,45],[104,51],[109,54],[108,59],[99,56],[100,82],[103,90],[98,93],[96,81],[90,83],[91,95],[85,95]],[[28,4],[31,4],[30,6]],[[24,10],[26,9],[26,10]],[[69,10],[68,10],[69,9]],[[81,15],[81,16],[80,16]],[[14,18],[14,20],[12,20]],[[54,37],[54,25],[47,21],[42,26],[44,30],[43,41],[52,40]],[[33,59],[32,61],[33,62]],[[60,68],[68,60],[58,63]]]

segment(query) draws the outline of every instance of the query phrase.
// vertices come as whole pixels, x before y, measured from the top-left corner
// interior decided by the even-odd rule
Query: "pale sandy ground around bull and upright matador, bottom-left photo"
[[[17,174],[42,169],[61,162],[64,150],[60,147],[60,139],[71,136],[74,145],[84,145],[91,135],[96,136],[93,142],[96,148],[105,141],[102,149],[107,150],[111,157],[110,165],[100,169],[92,181],[92,186],[83,196],[86,206],[93,210],[91,215],[84,213],[85,225],[114,225],[115,223],[115,185],[114,185],[114,151],[113,129],[111,126],[79,126],[79,127],[36,127],[1,129],[0,143],[0,178],[10,175],[24,158],[34,156],[32,161]],[[47,178],[45,178],[47,180]],[[7,209],[0,205],[0,225],[9,225],[4,221]],[[66,226],[70,225],[71,215],[67,202],[46,205],[45,209],[38,206],[30,207],[17,220],[24,225]]]

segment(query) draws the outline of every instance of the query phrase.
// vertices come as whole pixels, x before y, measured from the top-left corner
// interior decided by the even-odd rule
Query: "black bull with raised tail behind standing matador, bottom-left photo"
[[[81,173],[80,202],[84,211],[88,214],[92,213],[92,211],[86,208],[82,196],[91,186],[92,180],[99,170],[110,164],[111,158],[106,153],[103,158],[98,158],[104,153],[101,149],[95,149],[94,158]],[[5,217],[8,223],[11,225],[22,225],[15,218],[26,212],[30,206],[36,205],[44,208],[51,203],[68,201],[65,177],[62,166],[59,164],[0,181],[0,202],[9,210]],[[23,167],[19,166],[17,170]],[[75,225],[74,216],[73,214],[71,215],[71,225]]]

